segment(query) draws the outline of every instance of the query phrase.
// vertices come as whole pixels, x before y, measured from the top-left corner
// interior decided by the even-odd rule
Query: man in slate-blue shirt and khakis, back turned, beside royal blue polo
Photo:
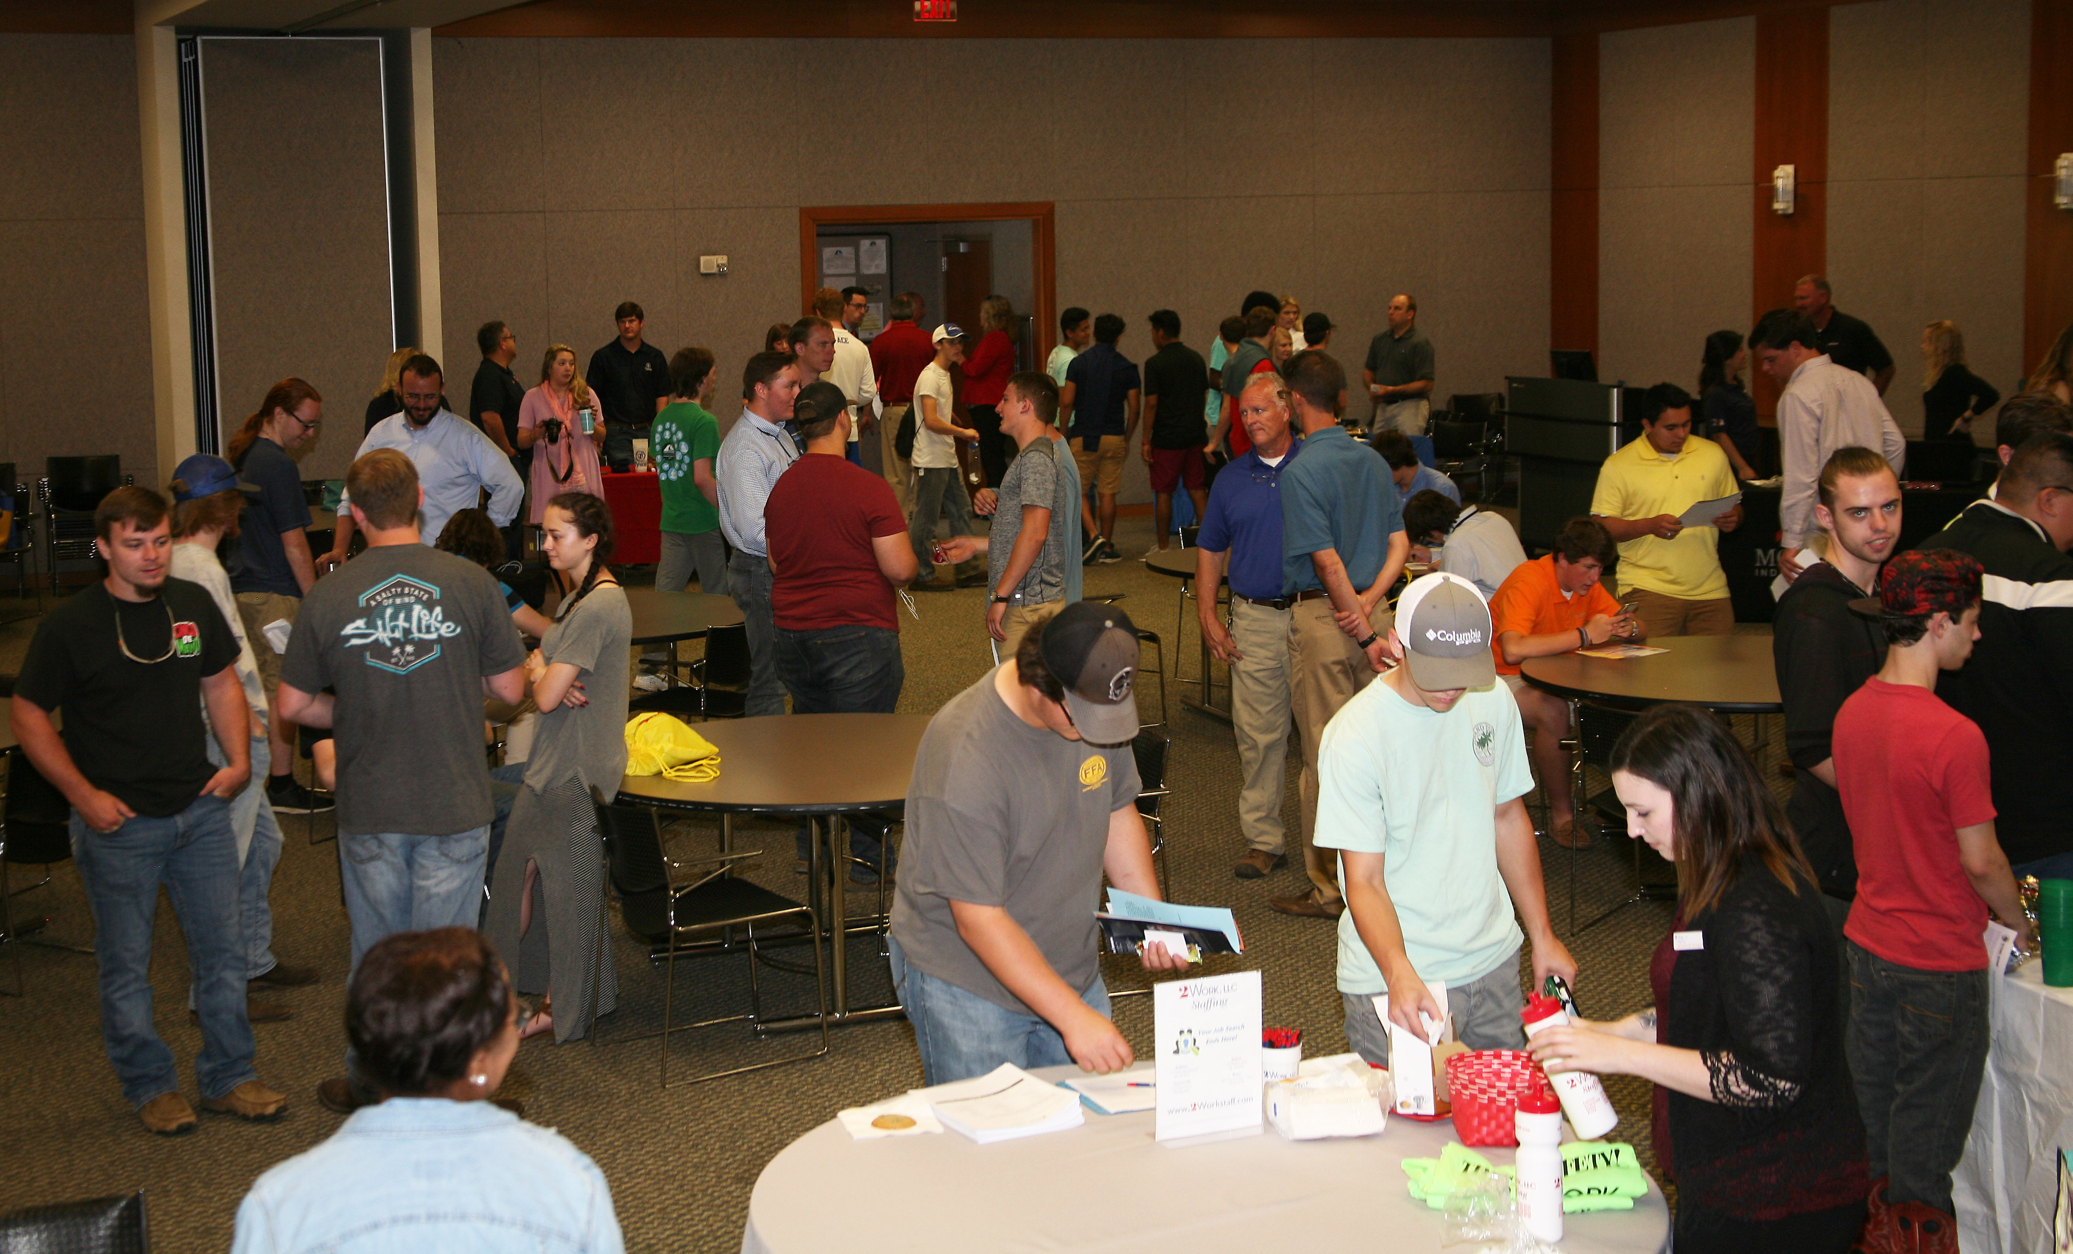
[[[1345,369],[1318,350],[1283,367],[1304,456],[1281,477],[1281,593],[1289,609],[1289,699],[1302,736],[1302,831],[1310,891],[1271,897],[1283,914],[1339,918],[1329,850],[1316,831],[1316,750],[1325,723],[1393,659],[1387,593],[1412,543],[1389,466],[1339,425]]]

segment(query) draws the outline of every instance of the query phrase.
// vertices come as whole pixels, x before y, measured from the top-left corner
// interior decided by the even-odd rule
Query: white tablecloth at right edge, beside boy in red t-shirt
[[[1994,1045],[1965,1159],[1953,1177],[1959,1242],[1973,1254],[2050,1248],[2058,1148],[2073,1148],[2073,989],[2044,962],[1994,982]]]

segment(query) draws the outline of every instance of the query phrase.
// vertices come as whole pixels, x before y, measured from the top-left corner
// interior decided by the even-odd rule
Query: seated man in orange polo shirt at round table
[[[1590,837],[1575,831],[1569,798],[1569,703],[1526,684],[1520,663],[1555,657],[1619,636],[1640,638],[1634,618],[1598,582],[1613,564],[1613,537],[1596,518],[1571,518],[1555,533],[1555,551],[1526,562],[1490,597],[1497,640],[1497,678],[1511,686],[1520,717],[1534,732],[1532,761],[1549,802],[1549,835],[1563,848]]]

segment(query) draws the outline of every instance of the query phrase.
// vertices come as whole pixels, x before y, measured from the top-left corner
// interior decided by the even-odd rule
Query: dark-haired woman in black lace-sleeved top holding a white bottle
[[[1551,1072],[1669,1090],[1677,1254],[1843,1254],[1864,1231],[1866,1150],[1843,1061],[1835,929],[1779,802],[1727,723],[1658,705],[1613,748],[1627,831],[1677,864],[1656,1005],[1532,1038]],[[1660,1018],[1658,1018],[1660,1014]]]

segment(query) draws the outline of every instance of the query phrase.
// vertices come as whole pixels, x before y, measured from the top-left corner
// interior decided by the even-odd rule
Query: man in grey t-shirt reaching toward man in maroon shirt
[[[999,655],[1012,657],[1022,632],[1043,624],[1066,597],[1066,562],[1078,558],[1074,522],[1080,502],[1059,468],[1059,446],[1051,439],[1057,421],[1057,383],[1043,371],[1022,371],[1001,392],[1001,435],[1020,452],[997,489],[972,500],[981,514],[993,514],[993,533],[943,541],[954,562],[987,555],[987,634],[999,640]],[[1070,529],[1070,531],[1068,531]]]

